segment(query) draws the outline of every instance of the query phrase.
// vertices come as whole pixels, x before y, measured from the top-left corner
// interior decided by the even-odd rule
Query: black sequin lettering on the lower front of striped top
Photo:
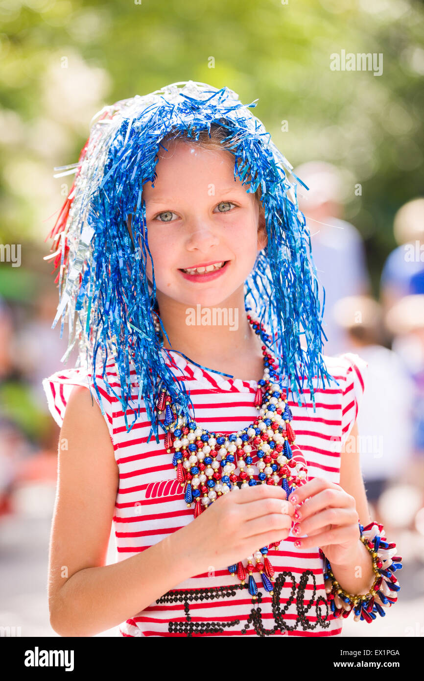
[[[305,591],[308,585],[309,578],[312,577],[314,590],[308,603],[305,603]],[[281,591],[284,588],[286,581],[291,582],[291,592],[287,603],[283,606],[280,601]],[[188,637],[195,635],[208,635],[210,633],[223,633],[225,629],[235,627],[240,624],[240,620],[233,620],[231,622],[193,622],[190,614],[190,603],[193,601],[210,601],[213,599],[231,598],[235,597],[238,590],[247,590],[247,584],[234,584],[230,586],[212,586],[210,588],[200,589],[182,589],[176,591],[168,591],[160,599],[157,599],[158,605],[161,603],[184,603],[185,620],[173,621],[168,624],[169,633],[184,634]],[[299,585],[296,585],[296,577],[289,571],[281,572],[274,582],[274,595],[272,596],[272,613],[274,614],[274,627],[272,629],[265,629],[262,619],[261,603],[263,595],[261,591],[257,592],[257,599],[252,599],[252,609],[246,624],[242,629],[242,634],[245,634],[249,627],[252,627],[258,636],[272,636],[284,634],[289,631],[299,629],[300,624],[303,631],[313,631],[319,625],[323,629],[328,629],[330,625],[329,620],[329,606],[327,599],[319,596],[315,601],[316,596],[316,578],[311,570],[305,570],[301,573]],[[291,626],[284,621],[284,615],[287,613],[290,605],[295,603],[297,618]],[[307,614],[310,609],[314,607],[316,614],[316,622],[308,621]],[[323,607],[325,607],[325,616],[323,617]]]

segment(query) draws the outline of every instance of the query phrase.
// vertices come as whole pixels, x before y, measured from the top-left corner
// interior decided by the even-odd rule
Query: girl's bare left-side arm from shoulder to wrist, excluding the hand
[[[105,565],[118,466],[101,411],[85,387],[69,398],[60,441],[50,540],[50,623],[62,636],[93,636],[123,622],[189,577],[169,535],[148,550]],[[177,539],[180,539],[177,538]],[[171,560],[172,558],[172,560]]]

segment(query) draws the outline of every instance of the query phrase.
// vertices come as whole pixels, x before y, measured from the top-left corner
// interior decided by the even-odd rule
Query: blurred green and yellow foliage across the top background
[[[393,215],[423,193],[423,14],[410,0],[1,0],[0,240],[48,253],[72,178],[53,180],[53,166],[78,160],[101,106],[199,80],[259,99],[293,166],[350,170],[346,219],[377,293]],[[382,53],[382,75],[332,71],[341,50]]]

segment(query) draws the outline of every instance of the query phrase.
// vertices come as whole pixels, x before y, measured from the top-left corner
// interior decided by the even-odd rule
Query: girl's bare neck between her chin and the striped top
[[[163,296],[160,291],[157,300],[171,343],[164,336],[163,347],[178,350],[197,364],[235,376],[238,376],[235,368],[241,363],[262,361],[261,338],[248,321],[244,291],[236,291],[218,306],[189,306]]]

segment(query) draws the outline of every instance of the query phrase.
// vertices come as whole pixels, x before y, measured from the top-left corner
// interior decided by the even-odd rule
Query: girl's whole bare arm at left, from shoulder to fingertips
[[[232,565],[289,535],[294,507],[280,486],[227,494],[188,525],[136,556],[105,565],[118,488],[108,427],[85,387],[67,403],[50,539],[50,624],[93,636],[132,618],[209,565]]]

